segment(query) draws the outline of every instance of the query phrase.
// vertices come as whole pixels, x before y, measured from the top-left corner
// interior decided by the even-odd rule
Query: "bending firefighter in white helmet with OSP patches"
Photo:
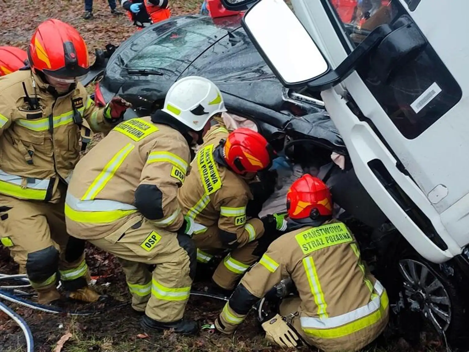
[[[176,195],[213,114],[224,110],[219,89],[185,77],[151,117],[117,125],[78,162],[65,206],[70,234],[119,258],[144,328],[196,334],[183,320],[195,275],[191,222]],[[149,264],[156,264],[153,272]]]

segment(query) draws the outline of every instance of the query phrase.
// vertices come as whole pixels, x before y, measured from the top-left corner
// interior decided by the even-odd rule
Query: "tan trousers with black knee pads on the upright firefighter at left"
[[[62,194],[56,204],[0,195],[1,243],[39,293],[55,290],[57,271],[68,291],[86,286],[89,277],[84,241],[67,234]]]

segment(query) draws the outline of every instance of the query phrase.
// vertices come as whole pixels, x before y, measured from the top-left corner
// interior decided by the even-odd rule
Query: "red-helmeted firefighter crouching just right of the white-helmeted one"
[[[264,224],[246,219],[246,205],[252,198],[247,182],[270,167],[275,152],[262,135],[247,128],[221,140],[222,130],[212,132],[197,151],[178,199],[194,222],[197,259],[206,263],[213,255],[230,251],[212,276],[215,291],[228,294],[258,259],[252,252]]]

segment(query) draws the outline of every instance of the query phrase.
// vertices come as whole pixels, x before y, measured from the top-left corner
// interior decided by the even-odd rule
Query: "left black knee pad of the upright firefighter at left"
[[[26,272],[33,282],[44,282],[57,272],[59,251],[54,246],[28,253]]]

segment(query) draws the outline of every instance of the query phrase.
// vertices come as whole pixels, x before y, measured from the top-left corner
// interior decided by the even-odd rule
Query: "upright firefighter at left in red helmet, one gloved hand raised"
[[[88,50],[67,23],[39,24],[28,57],[30,66],[0,78],[1,243],[26,266],[40,303],[61,297],[58,279],[70,298],[96,301],[84,242],[66,231],[65,194],[80,157],[82,124],[109,131],[126,107],[94,105],[79,82],[89,71]]]

